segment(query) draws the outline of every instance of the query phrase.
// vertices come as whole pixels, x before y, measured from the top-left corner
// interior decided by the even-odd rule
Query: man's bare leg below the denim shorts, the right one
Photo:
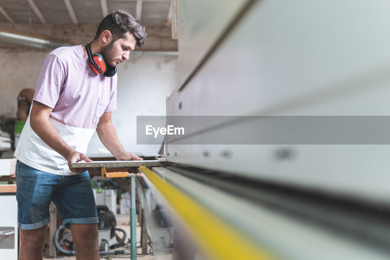
[[[77,260],[100,260],[97,224],[69,224]]]

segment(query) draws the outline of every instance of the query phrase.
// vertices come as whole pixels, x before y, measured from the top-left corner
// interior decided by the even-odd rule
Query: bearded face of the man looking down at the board
[[[100,49],[106,63],[112,67],[129,59],[130,51],[133,51],[137,40],[132,33],[127,32],[123,38],[111,41]]]

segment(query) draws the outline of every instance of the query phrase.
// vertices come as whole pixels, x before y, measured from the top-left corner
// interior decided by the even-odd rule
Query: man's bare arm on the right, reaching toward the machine
[[[97,135],[108,151],[119,161],[142,160],[134,153],[126,152],[119,141],[117,131],[111,121],[111,112],[104,112],[97,123]]]

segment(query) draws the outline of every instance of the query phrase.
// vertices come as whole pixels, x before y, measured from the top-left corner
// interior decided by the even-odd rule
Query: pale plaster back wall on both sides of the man
[[[43,58],[50,51],[0,50],[0,116],[16,118],[19,92],[35,89]],[[118,66],[117,110],[112,121],[127,151],[156,154],[160,146],[138,145],[137,116],[165,116],[165,98],[175,87],[175,55],[132,54]],[[104,151],[96,133],[89,153]]]

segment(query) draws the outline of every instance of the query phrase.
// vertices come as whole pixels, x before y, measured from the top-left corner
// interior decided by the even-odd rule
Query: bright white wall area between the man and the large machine
[[[165,99],[175,89],[177,56],[130,55],[118,66],[117,110],[112,122],[126,151],[152,155],[159,145],[137,145],[137,116],[165,116]],[[92,136],[88,155],[103,151],[97,134]]]

